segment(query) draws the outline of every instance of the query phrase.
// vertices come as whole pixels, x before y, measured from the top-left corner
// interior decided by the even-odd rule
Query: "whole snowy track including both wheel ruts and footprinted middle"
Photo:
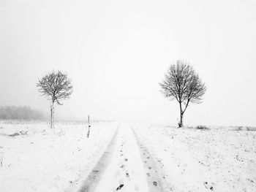
[[[79,191],[163,191],[150,154],[139,145],[132,128],[121,124]]]

